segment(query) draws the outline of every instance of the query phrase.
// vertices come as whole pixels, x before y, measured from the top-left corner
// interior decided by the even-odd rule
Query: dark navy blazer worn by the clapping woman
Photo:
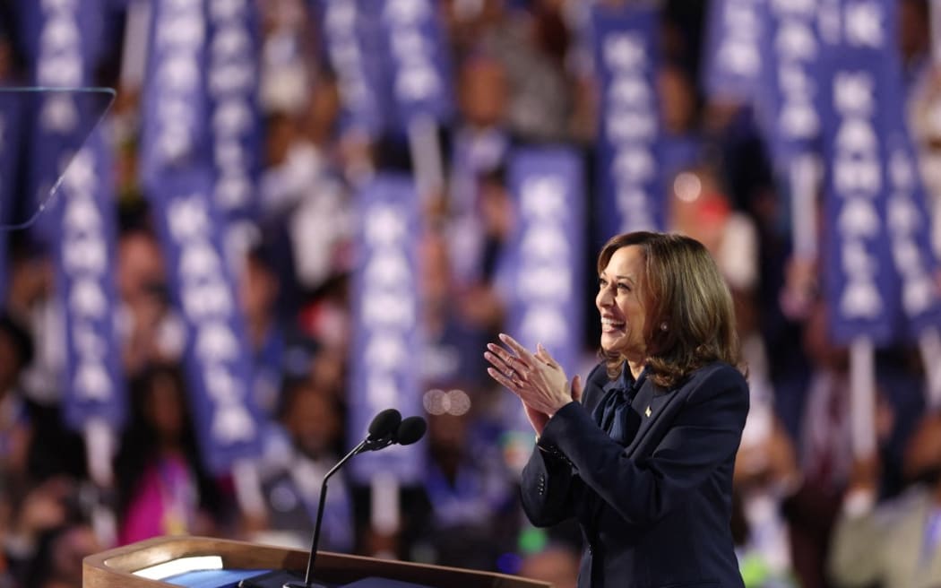
[[[593,418],[617,385],[603,364],[582,404],[559,409],[522,474],[534,525],[575,516],[585,549],[579,588],[742,587],[729,526],[732,469],[748,414],[742,373],[716,362],[677,389],[649,378],[625,411],[627,447]]]

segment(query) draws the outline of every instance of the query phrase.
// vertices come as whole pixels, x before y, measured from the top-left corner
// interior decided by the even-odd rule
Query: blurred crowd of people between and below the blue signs
[[[934,100],[928,8],[924,0],[899,2],[900,51],[919,120]],[[788,203],[753,113],[710,101],[698,83],[709,4],[659,4],[659,164],[674,179],[662,194],[668,230],[707,246],[736,302],[751,388],[732,521],[746,585],[928,585],[906,583],[932,562],[941,570],[935,524],[941,421],[926,407],[922,358],[902,341],[878,350],[878,452],[856,459],[848,349],[828,336],[816,270],[791,262]],[[17,5],[0,1],[0,84],[7,86],[22,84],[25,75],[22,31],[12,25]],[[564,143],[581,154],[586,169],[595,163],[598,96],[581,36],[591,3],[436,5],[454,68],[456,113],[440,129],[447,182],[440,194],[423,199],[419,247],[423,345],[414,363],[427,390],[429,429],[421,446],[427,471],[423,483],[400,488],[393,528],[373,524],[369,486],[335,478],[321,548],[574,586],[582,538],[566,524],[535,529],[521,516],[520,450],[504,414],[515,408],[488,381],[483,352],[502,331],[506,310],[498,266],[514,231],[507,153]],[[120,30],[126,6],[107,6]],[[116,34],[99,81],[117,87],[104,128],[114,145],[118,195],[120,303],[112,312],[130,416],[117,439],[112,484],[92,482],[87,439],[63,424],[63,316],[50,251],[29,230],[3,233],[0,588],[79,586],[83,556],[163,534],[306,548],[320,481],[355,443],[358,432],[346,425],[358,222],[353,195],[364,176],[407,170],[411,162],[399,137],[342,133],[337,72],[322,55],[308,3],[257,6],[265,113],[261,212],[236,275],[253,394],[266,416],[262,507],[246,508],[235,476],[211,472],[200,458],[179,317],[137,177],[141,87],[120,73],[120,56],[128,54]],[[925,125],[918,128],[928,133]],[[918,139],[927,160],[936,140]],[[600,219],[590,178],[584,193],[586,222],[594,228]],[[592,259],[603,242],[593,240]],[[795,278],[802,271],[809,278]],[[587,278],[585,293],[591,293],[595,277]],[[584,365],[597,353],[600,330],[595,321],[587,324]]]

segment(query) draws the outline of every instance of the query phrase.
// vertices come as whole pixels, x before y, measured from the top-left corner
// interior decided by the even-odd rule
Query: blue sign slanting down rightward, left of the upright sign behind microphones
[[[174,306],[185,326],[183,360],[206,464],[215,472],[261,451],[251,355],[222,249],[209,169],[177,169],[147,186],[167,258]]]

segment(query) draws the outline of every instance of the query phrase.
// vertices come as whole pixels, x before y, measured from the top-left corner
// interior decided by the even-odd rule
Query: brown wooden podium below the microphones
[[[82,563],[83,588],[155,588],[183,585],[141,576],[160,564],[209,558],[221,563],[225,570],[295,570],[307,567],[308,552],[300,549],[257,545],[244,541],[196,536],[165,536],[89,555]],[[189,560],[191,561],[191,560]],[[434,588],[550,588],[547,582],[518,576],[480,572],[441,565],[410,564],[357,555],[317,551],[315,579],[319,583],[342,587],[364,580],[395,580]],[[395,583],[392,581],[391,583]],[[194,583],[200,588],[210,586],[206,580]],[[230,586],[231,581],[221,586]]]

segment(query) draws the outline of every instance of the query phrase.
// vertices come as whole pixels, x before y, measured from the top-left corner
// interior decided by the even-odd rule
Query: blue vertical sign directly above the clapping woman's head
[[[601,243],[618,232],[662,230],[666,202],[658,165],[659,12],[596,5],[592,12],[600,82],[598,186]],[[598,243],[600,246],[600,243]]]

